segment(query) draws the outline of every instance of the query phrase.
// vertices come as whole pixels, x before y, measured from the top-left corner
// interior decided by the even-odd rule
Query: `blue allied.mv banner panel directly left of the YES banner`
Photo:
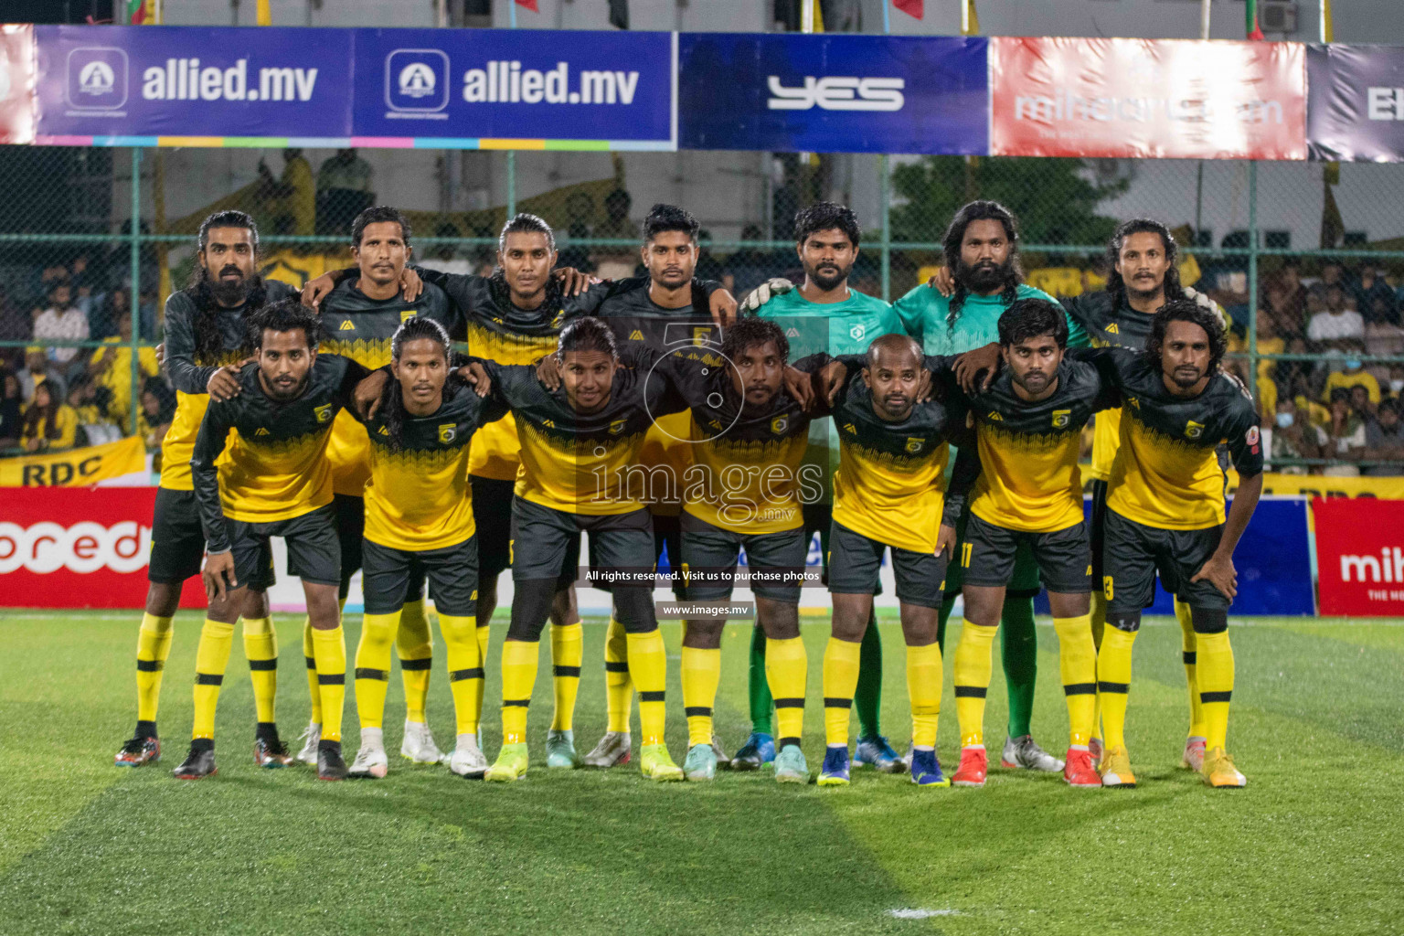
[[[357,29],[355,53],[358,138],[677,149],[671,32]]]

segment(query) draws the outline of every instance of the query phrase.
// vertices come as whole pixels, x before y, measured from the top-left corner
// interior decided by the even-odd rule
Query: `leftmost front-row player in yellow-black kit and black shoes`
[[[326,459],[331,421],[351,401],[366,370],[350,358],[317,356],[316,316],[285,299],[264,309],[257,328],[257,361],[239,370],[239,396],[211,403],[195,439],[191,474],[205,529],[205,591],[232,606],[268,554],[268,540],[284,537],[288,574],[302,578],[312,619],[313,654],[322,695],[317,776],[345,777],[341,759],[341,703],[345,695],[345,644],[337,608],[341,557],[331,507],[331,469]],[[226,452],[227,463],[215,463]],[[215,703],[229,636],[201,639],[195,658],[195,737],[176,769],[181,779],[215,773]],[[208,709],[205,724],[201,709]]]

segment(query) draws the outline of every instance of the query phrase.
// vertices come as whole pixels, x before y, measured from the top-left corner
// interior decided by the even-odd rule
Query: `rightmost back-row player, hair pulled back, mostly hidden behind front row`
[[[1155,310],[1167,302],[1193,299],[1214,314],[1227,327],[1227,316],[1207,296],[1179,285],[1179,250],[1165,225],[1148,218],[1134,218],[1118,226],[1106,246],[1106,260],[1111,274],[1106,289],[1085,292],[1064,300],[1068,314],[1075,319],[1091,337],[1094,347],[1146,348],[1150,338]],[[1102,644],[1102,627],[1106,623],[1106,598],[1102,594],[1105,573],[1102,571],[1102,542],[1106,522],[1106,481],[1112,473],[1120,439],[1122,411],[1106,410],[1098,414],[1092,424],[1092,640]],[[1198,770],[1205,759],[1203,710],[1199,704],[1199,690],[1195,681],[1195,629],[1189,606],[1175,599],[1175,617],[1179,620],[1181,641],[1185,661],[1185,676],[1189,682],[1189,737],[1185,741],[1185,765]],[[1101,695],[1098,695],[1101,707]],[[1101,717],[1094,720],[1091,744],[1092,759],[1102,755]]]

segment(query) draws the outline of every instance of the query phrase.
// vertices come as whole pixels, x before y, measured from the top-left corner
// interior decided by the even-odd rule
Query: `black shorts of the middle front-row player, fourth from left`
[[[800,575],[809,559],[809,537],[802,528],[776,533],[737,533],[682,512],[682,567],[688,574],[688,601],[726,601],[731,596],[739,553],[753,577],[779,577],[774,584],[751,581],[760,598],[799,603]],[[699,577],[705,577],[699,582]]]

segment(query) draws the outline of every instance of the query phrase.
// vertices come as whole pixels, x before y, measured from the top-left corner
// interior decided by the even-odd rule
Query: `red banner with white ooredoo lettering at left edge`
[[[154,487],[0,488],[0,606],[142,608]],[[204,608],[199,577],[181,608]]]

